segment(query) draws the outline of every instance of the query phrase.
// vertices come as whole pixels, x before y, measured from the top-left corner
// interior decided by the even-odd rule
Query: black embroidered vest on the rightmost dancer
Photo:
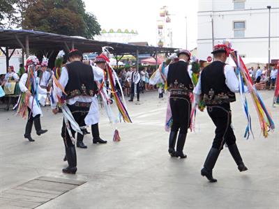
[[[225,63],[213,61],[202,70],[202,99],[206,105],[224,104],[236,101],[235,93],[226,85]]]

